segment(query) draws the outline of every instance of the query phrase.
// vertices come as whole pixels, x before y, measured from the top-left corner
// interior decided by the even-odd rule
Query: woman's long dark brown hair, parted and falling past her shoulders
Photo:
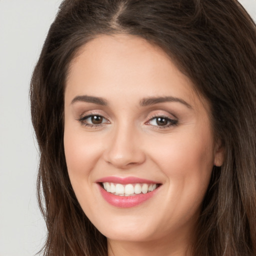
[[[64,0],[30,87],[39,145],[38,201],[47,256],[107,255],[82,211],[63,149],[68,66],[97,34],[128,33],[160,46],[210,103],[225,160],[213,167],[198,223],[196,256],[256,254],[256,30],[236,0]]]

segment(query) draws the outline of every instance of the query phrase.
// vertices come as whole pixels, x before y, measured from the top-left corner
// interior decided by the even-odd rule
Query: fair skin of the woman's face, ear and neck
[[[107,105],[76,100],[101,97]],[[141,106],[147,97],[175,97]],[[190,255],[212,166],[222,164],[206,100],[160,48],[131,35],[99,35],[70,64],[64,95],[64,149],[70,181],[109,255]],[[186,103],[184,103],[184,102]],[[92,123],[89,114],[104,118]],[[158,125],[155,116],[173,119]],[[87,124],[87,126],[86,126]],[[95,181],[135,176],[161,183],[134,207],[110,205]]]

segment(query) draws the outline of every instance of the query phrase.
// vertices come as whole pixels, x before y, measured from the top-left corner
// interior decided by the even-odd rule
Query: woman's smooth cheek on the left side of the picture
[[[101,155],[100,142],[95,146],[93,136],[85,136],[83,130],[65,125],[64,151],[69,179],[78,202],[86,213],[95,208],[96,198],[91,194],[95,188],[92,169]]]

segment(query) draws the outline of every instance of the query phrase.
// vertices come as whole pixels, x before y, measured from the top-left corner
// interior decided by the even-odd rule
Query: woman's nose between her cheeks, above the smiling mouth
[[[145,161],[141,134],[130,125],[119,125],[111,134],[104,150],[104,160],[119,169],[128,169]]]

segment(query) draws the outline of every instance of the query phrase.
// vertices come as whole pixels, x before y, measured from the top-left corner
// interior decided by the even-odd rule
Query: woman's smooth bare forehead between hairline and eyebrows
[[[156,45],[133,35],[99,35],[83,45],[70,63],[66,94],[111,97],[124,94],[190,98],[193,84]],[[69,99],[70,100],[70,99]]]

